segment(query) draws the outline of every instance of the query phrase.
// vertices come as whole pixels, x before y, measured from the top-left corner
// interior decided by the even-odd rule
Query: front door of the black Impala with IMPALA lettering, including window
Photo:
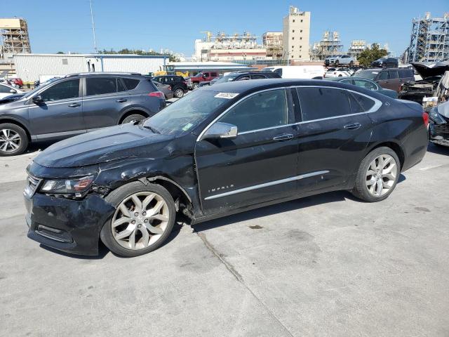
[[[290,91],[260,91],[217,121],[237,126],[234,139],[196,142],[196,169],[205,215],[280,199],[297,190],[297,127]]]

